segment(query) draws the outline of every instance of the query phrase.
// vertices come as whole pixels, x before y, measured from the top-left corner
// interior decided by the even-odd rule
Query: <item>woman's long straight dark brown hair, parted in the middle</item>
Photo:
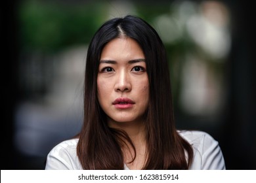
[[[77,156],[83,169],[123,169],[120,143],[126,139],[133,146],[124,131],[108,127],[106,114],[97,99],[100,55],[104,46],[117,37],[130,37],[137,41],[146,60],[150,99],[145,114],[148,154],[143,169],[188,169],[193,150],[175,128],[165,48],[154,28],[136,16],[113,18],[105,22],[89,45],[85,69],[84,122],[77,144]]]

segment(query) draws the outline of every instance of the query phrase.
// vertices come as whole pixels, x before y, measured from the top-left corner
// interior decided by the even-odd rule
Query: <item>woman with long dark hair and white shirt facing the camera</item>
[[[168,68],[144,20],[104,23],[87,52],[81,132],[51,150],[45,169],[225,169],[210,135],[175,128]]]

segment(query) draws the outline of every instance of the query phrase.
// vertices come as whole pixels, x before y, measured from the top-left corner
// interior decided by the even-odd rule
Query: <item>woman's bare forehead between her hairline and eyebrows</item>
[[[140,45],[131,38],[113,39],[104,46],[100,55],[100,59],[112,59],[116,61],[139,58],[144,58],[144,53]]]

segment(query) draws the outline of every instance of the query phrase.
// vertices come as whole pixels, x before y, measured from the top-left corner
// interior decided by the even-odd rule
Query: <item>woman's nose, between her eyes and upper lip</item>
[[[116,92],[130,92],[131,91],[131,78],[129,73],[120,71],[119,75],[116,75]]]

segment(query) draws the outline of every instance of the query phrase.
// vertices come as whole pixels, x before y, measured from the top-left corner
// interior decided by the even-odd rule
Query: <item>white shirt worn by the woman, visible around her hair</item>
[[[194,150],[191,170],[223,170],[226,169],[219,143],[203,131],[179,131]],[[47,156],[45,169],[81,170],[81,163],[76,154],[78,139],[70,139],[57,144]],[[124,165],[124,169],[128,169]]]

